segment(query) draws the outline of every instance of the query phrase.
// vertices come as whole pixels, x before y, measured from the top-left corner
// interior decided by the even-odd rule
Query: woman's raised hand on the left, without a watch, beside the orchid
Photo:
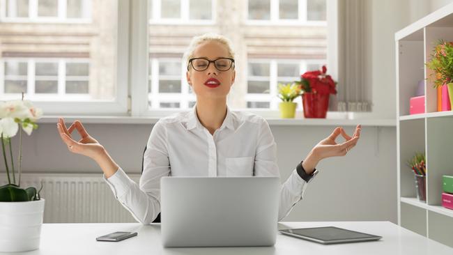
[[[66,129],[63,118],[59,118],[59,122],[56,123],[56,128],[59,131],[61,139],[66,146],[68,146],[68,150],[72,153],[85,155],[91,157],[93,160],[97,160],[105,151],[104,147],[86,132],[80,121],[75,121],[68,129]],[[71,137],[71,133],[74,129],[76,129],[77,132],[79,132],[80,137],[82,137],[79,141],[75,141]]]

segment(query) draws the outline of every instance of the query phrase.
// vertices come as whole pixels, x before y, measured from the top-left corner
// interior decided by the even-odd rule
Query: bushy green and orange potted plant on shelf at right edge
[[[433,87],[447,85],[450,104],[453,102],[453,42],[439,40],[431,53],[431,60],[426,63],[433,72],[428,79],[433,82]]]

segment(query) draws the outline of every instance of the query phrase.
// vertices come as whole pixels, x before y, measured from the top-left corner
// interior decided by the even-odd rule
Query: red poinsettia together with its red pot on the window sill
[[[305,72],[295,82],[302,90],[302,104],[305,118],[325,118],[329,107],[330,94],[337,94],[335,82],[326,74],[327,68]]]

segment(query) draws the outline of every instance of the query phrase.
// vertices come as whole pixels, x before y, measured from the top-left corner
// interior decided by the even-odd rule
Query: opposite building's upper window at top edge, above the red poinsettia
[[[325,25],[327,0],[249,0],[250,24],[321,24]]]

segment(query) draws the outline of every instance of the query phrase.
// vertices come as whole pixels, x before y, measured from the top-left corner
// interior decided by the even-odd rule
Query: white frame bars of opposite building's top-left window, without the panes
[[[73,23],[73,24],[89,24],[93,22],[90,8],[82,8],[83,6],[91,6],[93,0],[81,0],[82,17],[67,17],[68,0],[56,0],[58,2],[57,15],[39,16],[39,0],[29,0],[29,16],[28,17],[8,17],[6,15],[6,1],[17,0],[0,0],[0,22],[4,23]],[[95,0],[94,0],[95,1]],[[84,14],[84,15],[83,15]]]

